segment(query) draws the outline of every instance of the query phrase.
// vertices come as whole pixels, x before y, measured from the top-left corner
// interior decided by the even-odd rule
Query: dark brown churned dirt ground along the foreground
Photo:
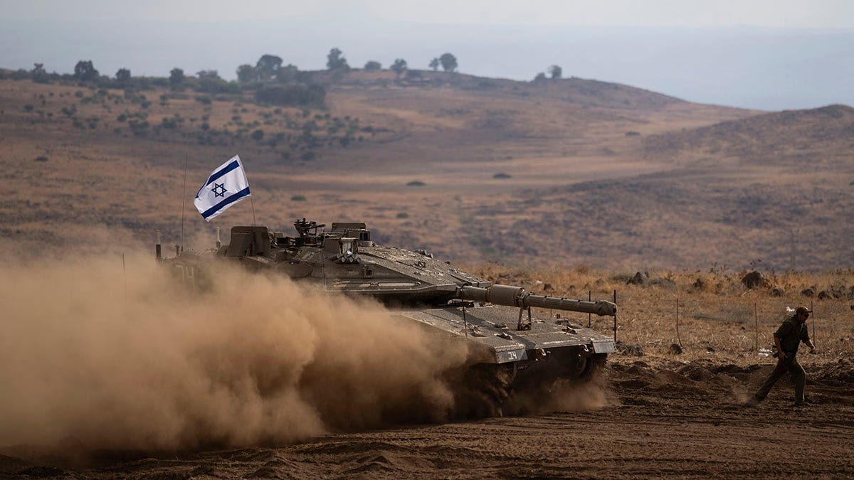
[[[806,355],[804,355],[806,356]],[[95,454],[76,465],[4,448],[3,477],[434,478],[851,477],[854,362],[805,358],[810,407],[787,378],[743,407],[771,369],[617,355],[594,389],[604,405],[340,433],[292,445]],[[576,407],[572,407],[572,403]]]

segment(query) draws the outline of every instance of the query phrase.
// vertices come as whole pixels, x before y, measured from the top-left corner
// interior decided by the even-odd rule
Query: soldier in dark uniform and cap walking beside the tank
[[[747,401],[748,407],[756,407],[760,401],[765,400],[771,387],[777,383],[784,373],[789,372],[792,376],[792,381],[795,383],[795,407],[804,407],[810,403],[804,397],[804,384],[806,383],[806,372],[804,367],[798,363],[798,346],[800,342],[804,342],[807,347],[810,347],[810,354],[816,353],[816,347],[810,341],[810,334],[807,331],[806,319],[810,318],[810,309],[807,307],[798,307],[795,309],[795,314],[792,317],[783,321],[783,325],[774,332],[774,343],[777,346],[777,366],[771,372],[768,378],[762,383],[762,386],[753,395],[753,398]]]

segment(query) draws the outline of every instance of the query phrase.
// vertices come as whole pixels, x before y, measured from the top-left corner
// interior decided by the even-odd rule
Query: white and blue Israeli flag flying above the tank
[[[240,156],[234,155],[230,161],[220,165],[208,177],[208,181],[196,193],[193,203],[205,220],[211,221],[225,212],[231,205],[240,202],[249,194],[249,180],[243,171]]]

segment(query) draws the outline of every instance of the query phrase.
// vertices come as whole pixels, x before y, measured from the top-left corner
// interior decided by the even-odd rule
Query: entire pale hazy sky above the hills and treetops
[[[412,68],[451,52],[459,70],[623,83],[693,102],[764,108],[854,104],[854,0],[0,0],[0,67],[167,76],[263,54],[303,70],[337,47],[352,67]]]

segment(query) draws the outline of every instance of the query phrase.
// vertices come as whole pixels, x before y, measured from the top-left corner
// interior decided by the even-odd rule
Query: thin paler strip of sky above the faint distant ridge
[[[851,0],[3,0],[5,19],[266,20],[361,12],[382,21],[552,26],[848,28]]]

